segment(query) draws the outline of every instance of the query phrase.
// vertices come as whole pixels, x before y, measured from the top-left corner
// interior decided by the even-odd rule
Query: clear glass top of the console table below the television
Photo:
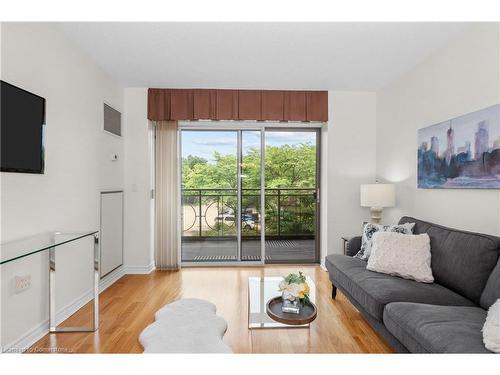
[[[9,263],[97,233],[99,231],[96,230],[76,233],[45,232],[5,242],[0,245],[0,264]]]

